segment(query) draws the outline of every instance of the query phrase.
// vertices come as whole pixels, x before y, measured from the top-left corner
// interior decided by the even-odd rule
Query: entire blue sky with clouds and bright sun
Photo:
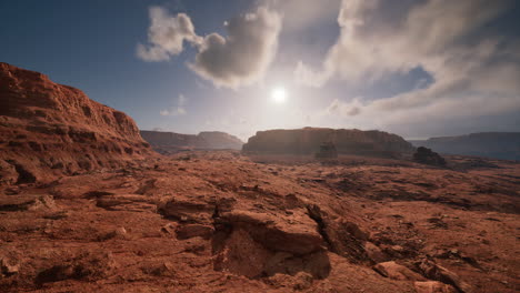
[[[0,61],[143,130],[520,131],[518,0],[0,1]]]

